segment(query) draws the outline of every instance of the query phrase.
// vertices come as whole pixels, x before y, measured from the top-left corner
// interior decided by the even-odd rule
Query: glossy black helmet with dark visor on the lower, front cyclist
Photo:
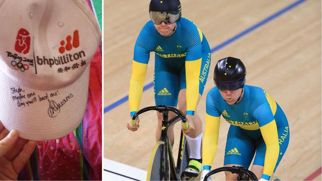
[[[234,57],[218,60],[214,71],[214,82],[219,90],[237,90],[244,87],[246,67]]]

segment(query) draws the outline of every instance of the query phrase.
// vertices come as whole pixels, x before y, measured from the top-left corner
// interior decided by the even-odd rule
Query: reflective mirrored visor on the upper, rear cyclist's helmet
[[[170,12],[150,11],[150,18],[154,24],[160,25],[162,21],[165,24],[172,24],[180,18],[181,9]]]

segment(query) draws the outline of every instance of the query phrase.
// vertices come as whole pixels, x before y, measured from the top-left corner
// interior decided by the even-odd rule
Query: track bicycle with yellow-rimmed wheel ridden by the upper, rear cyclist
[[[186,142],[185,135],[181,131],[180,142],[179,142],[179,150],[178,150],[178,158],[177,163],[175,164],[171,143],[168,138],[168,128],[175,123],[182,120],[183,128],[185,130],[188,129],[188,123],[186,122],[186,117],[183,113],[174,108],[167,107],[164,105],[159,106],[150,106],[139,110],[132,117],[132,125],[135,125],[135,119],[138,115],[156,110],[162,113],[162,127],[161,127],[161,137],[160,140],[156,143],[154,150],[152,152],[147,181],[181,181],[181,180],[191,180],[190,178],[184,176],[182,172],[189,164],[189,146]],[[175,113],[177,116],[171,120],[168,120],[169,111]]]

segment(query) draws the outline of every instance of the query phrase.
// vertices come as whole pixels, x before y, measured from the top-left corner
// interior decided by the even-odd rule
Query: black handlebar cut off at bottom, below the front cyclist
[[[232,174],[241,174],[241,173],[244,173],[246,174],[252,181],[258,181],[256,175],[246,169],[245,167],[236,167],[236,166],[232,166],[232,167],[220,167],[220,168],[217,168],[217,169],[214,169],[212,171],[210,171],[204,178],[204,181],[207,181],[207,179],[213,175],[213,174],[216,174],[218,172],[223,172],[223,171],[228,171],[228,172],[231,172]]]

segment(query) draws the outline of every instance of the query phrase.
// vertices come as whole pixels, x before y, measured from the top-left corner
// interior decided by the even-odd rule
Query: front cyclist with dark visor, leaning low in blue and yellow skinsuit
[[[246,68],[237,58],[217,62],[216,87],[206,99],[206,129],[203,143],[203,176],[213,163],[218,142],[220,115],[229,124],[224,166],[248,168],[256,152],[252,171],[262,181],[269,180],[289,142],[289,127],[279,105],[262,88],[244,85]],[[237,174],[226,172],[226,180]]]

